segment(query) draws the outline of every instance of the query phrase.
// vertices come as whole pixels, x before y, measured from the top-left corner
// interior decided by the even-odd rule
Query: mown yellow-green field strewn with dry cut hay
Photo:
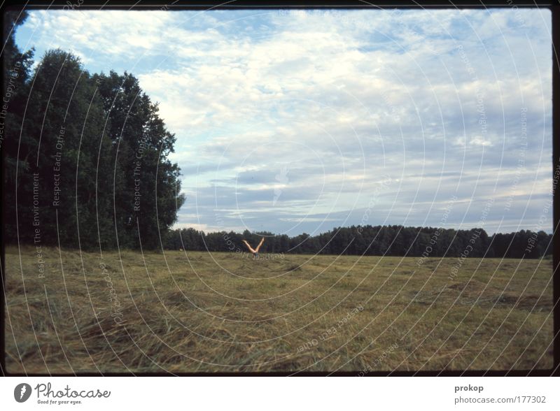
[[[10,373],[552,366],[550,260],[6,248]],[[456,275],[452,274],[455,267]]]

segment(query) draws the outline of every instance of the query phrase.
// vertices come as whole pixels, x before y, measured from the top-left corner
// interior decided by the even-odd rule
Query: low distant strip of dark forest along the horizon
[[[266,236],[260,252],[295,254],[354,254],[408,257],[540,258],[552,254],[552,234],[545,231],[497,233],[484,229],[454,230],[432,227],[351,226],[316,236],[274,236],[272,233],[204,233],[195,229],[169,231],[167,250],[246,252],[241,240],[253,246]]]

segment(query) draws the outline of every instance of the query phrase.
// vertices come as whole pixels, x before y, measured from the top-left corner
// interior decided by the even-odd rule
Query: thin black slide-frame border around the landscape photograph
[[[6,10],[44,10],[44,9],[62,9],[68,6],[70,1],[52,0],[52,1],[6,1],[0,5],[2,17]],[[169,11],[172,10],[243,10],[243,9],[306,9],[306,8],[337,8],[341,10],[367,10],[367,9],[449,9],[449,8],[548,8],[552,13],[552,171],[560,167],[560,1],[499,1],[499,0],[481,0],[481,1],[248,1],[248,0],[230,0],[230,1],[100,1],[100,0],[84,0],[80,4],[80,10],[161,10],[165,6]],[[3,24],[3,18],[2,18]],[[3,40],[5,41],[5,39]],[[3,62],[3,55],[2,62]],[[3,66],[3,65],[2,65]],[[4,71],[2,70],[2,84]],[[558,119],[558,121],[555,121]],[[2,150],[2,174],[5,171],[5,161]],[[6,187],[2,184],[2,199],[6,199]],[[560,222],[560,189],[554,190],[553,193],[553,227],[559,227]],[[6,222],[5,211],[1,215],[2,228]],[[342,372],[271,372],[271,373],[62,373],[62,374],[35,374],[35,373],[8,373],[6,370],[6,349],[5,349],[5,287],[4,287],[4,256],[5,244],[3,236],[1,237],[1,266],[0,275],[2,282],[2,292],[0,303],[2,305],[2,315],[0,316],[1,340],[0,351],[0,373],[4,376],[18,377],[50,377],[55,376],[238,376],[238,377],[255,377],[255,376],[358,376],[359,371]],[[552,231],[552,275],[553,275],[553,366],[550,369],[537,370],[435,370],[435,371],[372,371],[367,373],[367,377],[386,377],[386,376],[560,376],[560,235],[556,229]]]

